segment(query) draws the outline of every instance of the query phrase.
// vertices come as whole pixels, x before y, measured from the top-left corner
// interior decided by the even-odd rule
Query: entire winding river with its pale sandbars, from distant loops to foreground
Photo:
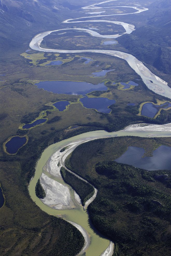
[[[83,32],[89,33],[94,37],[101,38],[117,38],[122,36],[123,34],[130,34],[134,31],[134,25],[118,22],[118,21],[110,21],[110,20],[91,20],[90,18],[95,17],[106,17],[106,16],[116,16],[116,15],[132,15],[135,13],[140,13],[143,11],[147,11],[147,8],[140,6],[112,6],[112,7],[101,7],[99,5],[113,2],[117,0],[109,0],[96,4],[92,4],[86,7],[83,7],[84,10],[99,10],[99,9],[107,9],[107,8],[115,8],[115,7],[125,7],[135,9],[135,12],[130,13],[122,13],[122,14],[110,14],[110,15],[101,15],[103,12],[98,12],[100,15],[86,16],[76,19],[68,19],[63,23],[81,23],[81,22],[105,22],[105,23],[115,23],[124,27],[125,32],[122,34],[115,35],[101,35],[96,31],[84,28],[74,28],[74,30],[80,30]],[[94,14],[96,12],[91,12],[90,14]],[[88,20],[81,20],[89,18]],[[70,28],[73,30],[73,28]],[[58,49],[46,49],[40,47],[41,41],[48,34],[51,34],[55,31],[62,30],[70,30],[70,29],[58,29],[53,31],[46,31],[36,35],[32,41],[30,42],[30,47],[33,50],[41,51],[41,52],[58,52],[58,53],[79,53],[79,52],[94,52],[94,53],[102,53],[108,54],[114,57],[118,57],[127,61],[127,63],[133,68],[133,70],[140,75],[146,86],[154,91],[157,94],[166,96],[171,98],[171,88],[168,87],[167,82],[162,80],[161,78],[154,75],[141,61],[136,59],[134,56],[128,53],[115,51],[115,50],[58,50]],[[46,213],[49,215],[60,216],[63,219],[67,220],[74,226],[76,226],[84,236],[85,244],[82,248],[82,251],[79,255],[86,256],[110,256],[114,251],[114,244],[108,239],[102,238],[98,234],[94,232],[94,230],[89,225],[89,216],[86,211],[87,206],[94,200],[97,194],[97,190],[95,189],[95,194],[92,198],[90,198],[85,207],[81,205],[81,201],[79,196],[75,193],[75,191],[66,184],[61,175],[60,168],[61,166],[65,167],[65,159],[66,157],[72,153],[72,151],[81,143],[95,140],[99,138],[105,137],[115,137],[115,136],[139,136],[139,137],[167,137],[171,136],[171,124],[164,125],[145,125],[142,126],[138,124],[131,125],[126,127],[124,130],[120,130],[118,132],[106,132],[103,130],[83,133],[67,140],[60,141],[55,143],[44,150],[41,155],[41,158],[37,162],[35,175],[32,178],[29,184],[29,193],[32,200]],[[63,147],[66,147],[66,150],[60,152]],[[67,169],[67,168],[66,168]],[[79,176],[77,176],[79,177]],[[37,184],[38,179],[40,178],[40,182],[43,188],[46,191],[46,197],[44,199],[39,199],[35,195],[35,186]],[[79,177],[81,178],[81,177]],[[86,254],[85,254],[86,253]]]

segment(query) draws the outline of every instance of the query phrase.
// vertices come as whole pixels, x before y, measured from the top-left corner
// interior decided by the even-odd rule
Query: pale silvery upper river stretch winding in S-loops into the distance
[[[117,0],[110,0],[110,1],[104,1],[96,4],[92,4],[86,7],[83,7],[82,9],[99,9],[102,7],[99,7],[97,5],[112,2]],[[130,67],[140,75],[143,82],[146,84],[146,86],[152,90],[153,92],[166,96],[168,98],[171,98],[171,88],[167,85],[167,82],[161,79],[160,77],[153,74],[141,61],[139,61],[137,58],[135,58],[133,55],[121,51],[115,51],[115,50],[94,50],[94,49],[87,49],[87,50],[61,50],[61,49],[48,49],[48,48],[42,48],[40,46],[42,40],[47,35],[51,34],[52,32],[56,31],[69,31],[69,30],[79,30],[82,32],[87,32],[93,37],[101,37],[101,38],[117,38],[122,36],[123,34],[130,34],[132,31],[134,31],[134,25],[128,24],[125,22],[118,22],[118,21],[111,21],[111,20],[93,20],[90,18],[95,17],[106,17],[106,16],[118,16],[118,15],[132,15],[141,13],[143,11],[147,11],[148,8],[140,7],[140,6],[115,6],[115,7],[125,7],[125,8],[133,8],[136,10],[136,12],[130,12],[130,13],[120,13],[120,14],[104,14],[104,15],[94,15],[94,16],[84,16],[80,18],[75,19],[67,19],[63,21],[63,23],[83,23],[83,22],[105,22],[105,23],[111,23],[111,24],[118,24],[124,27],[125,32],[122,34],[115,34],[115,35],[101,35],[96,31],[93,31],[91,29],[85,29],[85,28],[66,28],[66,29],[57,29],[52,31],[45,31],[41,32],[40,34],[37,34],[30,42],[30,48],[33,50],[41,51],[41,52],[58,52],[58,53],[80,53],[80,52],[94,52],[94,53],[102,53],[102,54],[108,54],[114,57],[118,57],[121,59],[124,59],[127,61],[127,63],[130,65]],[[104,7],[103,7],[104,8]],[[112,8],[112,7],[105,7],[105,8]],[[113,6],[114,8],[114,6]],[[86,19],[86,20],[82,20]],[[79,21],[78,21],[79,20]]]

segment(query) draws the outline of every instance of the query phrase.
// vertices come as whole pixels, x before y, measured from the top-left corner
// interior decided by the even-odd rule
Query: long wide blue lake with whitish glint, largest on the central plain
[[[43,88],[48,92],[73,95],[84,95],[92,91],[107,91],[108,89],[104,83],[94,85],[87,82],[73,81],[43,81],[35,85],[37,85],[38,88]]]

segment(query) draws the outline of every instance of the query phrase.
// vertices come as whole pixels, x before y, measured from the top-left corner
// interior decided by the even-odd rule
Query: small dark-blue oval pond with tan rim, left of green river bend
[[[26,137],[15,136],[12,137],[6,144],[6,151],[9,154],[16,154],[18,149],[20,149],[27,142]]]

